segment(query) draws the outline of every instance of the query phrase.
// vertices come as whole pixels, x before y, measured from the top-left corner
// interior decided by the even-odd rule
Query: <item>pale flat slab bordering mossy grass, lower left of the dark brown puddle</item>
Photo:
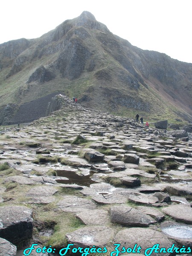
[[[58,189],[55,189],[53,186],[36,186],[30,189],[27,193],[27,197],[48,197],[54,195],[58,192]]]

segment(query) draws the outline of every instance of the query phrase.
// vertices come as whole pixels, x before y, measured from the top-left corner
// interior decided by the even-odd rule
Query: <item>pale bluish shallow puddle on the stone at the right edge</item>
[[[162,228],[162,231],[169,236],[180,239],[192,239],[192,227],[186,226],[169,226]]]

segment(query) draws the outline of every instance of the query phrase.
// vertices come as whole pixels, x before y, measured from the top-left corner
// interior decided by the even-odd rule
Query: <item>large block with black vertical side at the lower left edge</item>
[[[32,237],[32,210],[21,206],[0,207],[0,237],[19,244]]]

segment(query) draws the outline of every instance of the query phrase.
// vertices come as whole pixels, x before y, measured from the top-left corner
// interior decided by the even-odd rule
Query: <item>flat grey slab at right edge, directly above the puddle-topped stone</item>
[[[192,208],[185,204],[171,205],[163,208],[163,212],[186,224],[192,224]]]

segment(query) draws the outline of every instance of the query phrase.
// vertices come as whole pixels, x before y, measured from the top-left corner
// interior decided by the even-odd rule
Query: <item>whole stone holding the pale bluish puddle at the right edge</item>
[[[161,224],[161,230],[166,236],[181,246],[192,247],[192,225],[165,221]]]

